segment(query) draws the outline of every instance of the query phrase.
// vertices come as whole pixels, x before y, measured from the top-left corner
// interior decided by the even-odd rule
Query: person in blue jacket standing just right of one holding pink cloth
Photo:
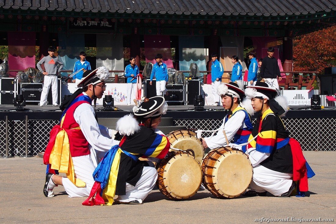
[[[168,96],[166,85],[168,84],[168,70],[167,65],[162,62],[162,54],[157,54],[155,57],[156,63],[153,65],[150,85],[152,85],[153,78],[156,78],[156,95],[162,96],[162,93]]]

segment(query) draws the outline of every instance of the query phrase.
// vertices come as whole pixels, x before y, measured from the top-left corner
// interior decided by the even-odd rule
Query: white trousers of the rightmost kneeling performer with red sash
[[[293,174],[280,173],[262,165],[256,165],[253,167],[250,188],[257,192],[268,191],[275,196],[280,196],[289,190],[292,183]]]

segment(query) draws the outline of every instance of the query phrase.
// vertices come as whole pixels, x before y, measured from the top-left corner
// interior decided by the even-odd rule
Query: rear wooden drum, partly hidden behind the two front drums
[[[181,150],[191,149],[195,153],[196,160],[201,163],[204,156],[204,147],[196,133],[190,130],[175,130],[167,135],[171,147]],[[171,151],[174,151],[171,149]]]

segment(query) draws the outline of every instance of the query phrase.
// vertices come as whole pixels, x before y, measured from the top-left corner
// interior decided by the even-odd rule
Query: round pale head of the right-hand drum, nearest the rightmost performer
[[[248,188],[253,175],[250,160],[241,151],[225,152],[215,163],[213,182],[219,194],[236,197]]]

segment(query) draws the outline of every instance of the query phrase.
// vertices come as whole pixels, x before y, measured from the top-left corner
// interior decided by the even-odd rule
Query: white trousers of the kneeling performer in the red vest
[[[88,197],[90,195],[94,180],[93,171],[96,169],[92,162],[91,155],[72,157],[75,175],[86,183],[85,187],[77,187],[68,178],[63,178],[63,186],[69,197]]]

